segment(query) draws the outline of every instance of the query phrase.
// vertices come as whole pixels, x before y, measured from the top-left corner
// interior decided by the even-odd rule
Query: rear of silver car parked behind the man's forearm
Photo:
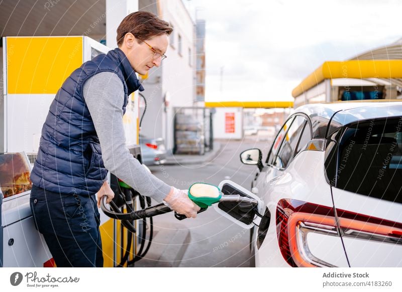
[[[166,148],[163,138],[148,138],[141,134],[139,138],[143,164],[151,166],[166,162]]]

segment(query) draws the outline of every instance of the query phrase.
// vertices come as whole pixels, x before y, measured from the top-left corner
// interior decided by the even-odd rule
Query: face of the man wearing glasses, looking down
[[[145,40],[154,50],[165,53],[169,44],[166,34],[154,36],[149,40]],[[131,67],[141,74],[145,75],[149,69],[156,66],[159,67],[161,57],[154,58],[154,52],[146,43],[138,44],[137,39],[132,34],[127,34],[120,49],[126,54],[130,61]]]

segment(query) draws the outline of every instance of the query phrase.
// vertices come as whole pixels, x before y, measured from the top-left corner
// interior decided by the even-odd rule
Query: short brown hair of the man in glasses
[[[126,16],[117,28],[117,45],[120,46],[123,43],[127,33],[132,33],[136,38],[148,40],[154,36],[170,35],[172,31],[173,28],[168,22],[150,12],[133,12]]]

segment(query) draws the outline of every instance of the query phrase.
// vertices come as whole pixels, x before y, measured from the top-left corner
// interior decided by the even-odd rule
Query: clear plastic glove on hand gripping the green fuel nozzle
[[[185,215],[187,218],[197,217],[197,212],[201,209],[188,198],[187,190],[178,190],[175,187],[172,187],[164,199],[164,203],[173,211]]]

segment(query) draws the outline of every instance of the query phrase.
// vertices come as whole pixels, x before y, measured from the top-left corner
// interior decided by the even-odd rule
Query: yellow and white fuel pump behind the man
[[[32,186],[29,172],[36,159],[43,123],[57,90],[83,62],[109,50],[108,47],[83,36],[3,38],[4,102],[0,106],[0,266],[53,265],[46,243],[33,223],[29,207]],[[131,95],[123,120],[126,144],[130,153],[140,159],[137,92]],[[21,173],[10,173],[13,168],[4,167],[7,163],[19,163],[24,165],[24,168]],[[16,180],[10,179],[8,182],[4,179],[15,178],[15,175],[25,178],[24,188],[18,187],[21,184]],[[111,174],[108,179],[112,188],[118,190],[118,180]],[[133,203],[134,209],[136,204],[138,203]],[[99,213],[104,265],[116,266],[126,250],[128,231],[122,228],[120,221],[110,219],[103,212]],[[139,223],[134,224],[134,227],[139,229]],[[137,252],[136,248],[137,235],[133,234],[128,260]]]

